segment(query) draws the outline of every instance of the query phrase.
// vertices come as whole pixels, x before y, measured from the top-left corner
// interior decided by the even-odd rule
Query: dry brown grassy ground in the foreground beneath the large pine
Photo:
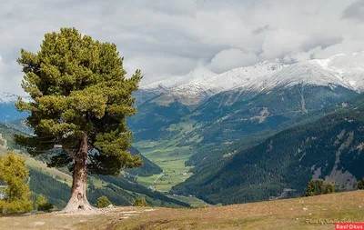
[[[199,209],[116,207],[0,218],[2,229],[334,229],[364,223],[364,191]]]

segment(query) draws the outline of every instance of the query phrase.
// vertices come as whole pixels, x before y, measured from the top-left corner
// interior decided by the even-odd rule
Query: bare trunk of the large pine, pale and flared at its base
[[[84,135],[80,151],[75,158],[71,198],[69,199],[68,204],[66,205],[63,212],[73,213],[82,210],[94,209],[94,207],[88,203],[86,197],[87,154],[87,136]]]

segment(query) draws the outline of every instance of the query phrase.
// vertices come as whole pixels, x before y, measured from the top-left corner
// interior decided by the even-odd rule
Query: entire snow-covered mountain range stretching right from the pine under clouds
[[[340,85],[364,92],[364,52],[334,55],[292,65],[264,61],[219,75],[198,66],[185,77],[171,78],[141,89],[175,96],[209,97],[231,89],[260,92],[298,84]]]

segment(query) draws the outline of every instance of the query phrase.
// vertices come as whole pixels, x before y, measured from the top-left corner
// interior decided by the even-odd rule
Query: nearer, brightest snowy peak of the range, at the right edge
[[[294,85],[340,85],[345,88],[364,91],[364,52],[354,55],[334,55],[328,59],[312,59],[292,65],[275,73],[262,75],[240,90],[262,91],[278,86]]]

